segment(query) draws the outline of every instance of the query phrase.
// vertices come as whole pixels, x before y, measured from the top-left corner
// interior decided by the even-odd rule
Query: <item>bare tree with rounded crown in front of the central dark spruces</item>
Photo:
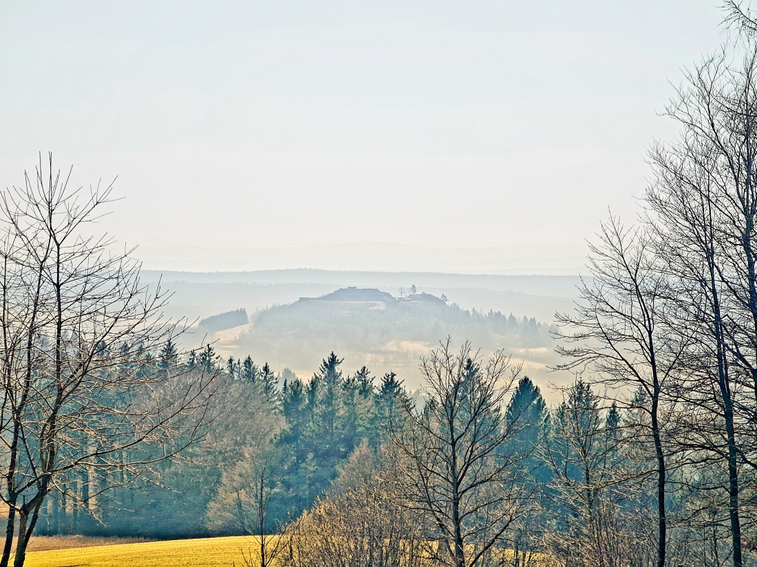
[[[404,426],[391,430],[404,490],[433,525],[439,559],[481,565],[523,513],[517,458],[507,446],[518,423],[503,415],[520,367],[501,352],[481,367],[469,343],[453,352],[447,339],[422,358],[421,370],[428,402],[420,412],[407,407]]]

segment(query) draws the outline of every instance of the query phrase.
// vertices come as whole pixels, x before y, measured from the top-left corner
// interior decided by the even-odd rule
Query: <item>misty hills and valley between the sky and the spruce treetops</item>
[[[537,383],[563,384],[569,376],[550,373],[547,364],[557,364],[553,354],[554,314],[572,309],[579,278],[575,276],[513,276],[435,274],[413,272],[350,272],[325,270],[273,270],[254,272],[143,272],[145,282],[157,283],[173,293],[167,316],[186,317],[195,322],[182,337],[185,348],[213,343],[223,358],[251,355],[274,370],[285,368],[307,378],[332,350],[344,357],[347,367],[368,364],[384,373],[394,370],[411,389],[421,386],[419,357],[428,355],[448,335],[475,342],[484,353],[506,349],[517,361],[525,362],[525,373]],[[301,298],[319,298],[347,287],[375,288],[394,297],[416,293],[444,296],[447,308],[418,310],[412,315],[396,311],[375,311],[375,302],[345,298],[329,302],[327,308],[302,308]],[[291,305],[294,304],[294,305]],[[296,314],[283,316],[287,306]],[[368,310],[361,309],[368,306]],[[415,305],[415,304],[413,304]],[[455,308],[452,308],[452,307]],[[459,307],[459,308],[458,308]],[[213,315],[239,308],[250,321],[213,329],[202,325]],[[272,309],[273,308],[273,309]],[[494,334],[475,324],[473,314],[498,311],[505,318],[534,319],[538,339],[524,344],[512,325]],[[410,315],[410,322],[407,316]],[[406,320],[404,324],[401,320]],[[248,324],[249,323],[249,324]],[[230,328],[229,328],[230,327]],[[357,334],[356,334],[357,333]],[[356,340],[355,337],[362,337]],[[371,339],[368,337],[372,336]],[[525,350],[525,349],[531,350]],[[547,392],[550,390],[547,388]],[[553,397],[549,396],[550,399]]]

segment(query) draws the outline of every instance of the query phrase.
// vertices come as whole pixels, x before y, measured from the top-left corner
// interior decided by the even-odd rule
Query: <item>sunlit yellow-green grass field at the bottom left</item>
[[[237,567],[254,539],[206,538],[26,553],[27,567]],[[254,553],[254,552],[253,552]]]

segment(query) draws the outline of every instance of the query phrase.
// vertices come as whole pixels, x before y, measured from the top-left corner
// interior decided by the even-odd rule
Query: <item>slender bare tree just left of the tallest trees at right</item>
[[[667,416],[673,411],[671,383],[687,341],[666,324],[668,280],[656,256],[656,242],[640,228],[627,230],[611,217],[590,245],[591,277],[582,280],[575,311],[558,314],[557,351],[568,359],[558,368],[575,370],[591,383],[610,388],[648,419],[640,420],[634,442],[654,447],[657,493],[657,565],[665,567],[668,514],[665,510],[668,454]],[[640,398],[631,393],[642,389]],[[624,396],[625,394],[625,396]]]

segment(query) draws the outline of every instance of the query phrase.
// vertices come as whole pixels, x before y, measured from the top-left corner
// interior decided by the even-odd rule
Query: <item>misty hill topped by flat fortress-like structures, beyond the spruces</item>
[[[554,380],[547,376],[547,365],[556,362],[552,330],[532,317],[463,309],[444,295],[395,297],[375,288],[347,287],[264,309],[250,324],[207,339],[216,341],[214,348],[223,358],[249,354],[304,378],[334,351],[347,368],[365,364],[375,373],[391,370],[414,389],[421,382],[419,357],[447,336],[455,342],[470,340],[484,354],[504,349],[537,382]],[[195,337],[200,339],[200,333]]]

